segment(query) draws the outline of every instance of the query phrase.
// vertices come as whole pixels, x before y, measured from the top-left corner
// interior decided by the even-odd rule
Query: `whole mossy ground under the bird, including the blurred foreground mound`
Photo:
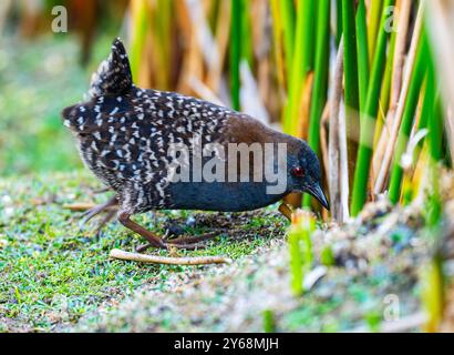
[[[143,244],[140,236],[111,222],[95,237],[94,224],[81,229],[80,213],[65,209],[105,201],[94,193],[100,187],[87,172],[0,180],[0,331],[260,332],[270,326],[266,312],[276,331],[330,332],[378,328],[389,295],[398,296],[400,316],[420,310],[417,270],[429,248],[415,233],[417,219],[398,221],[384,235],[376,229],[392,214],[340,233],[319,232],[317,263],[329,245],[337,264],[313,290],[295,296],[288,222],[276,206],[243,214],[163,211],[156,225],[152,215],[138,215],[158,233],[168,225],[190,235],[218,233],[205,250],[178,255],[234,260],[221,266],[145,265],[109,257],[114,247]]]

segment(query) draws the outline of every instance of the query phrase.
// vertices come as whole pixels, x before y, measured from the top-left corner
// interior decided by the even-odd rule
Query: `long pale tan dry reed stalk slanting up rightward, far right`
[[[402,90],[401,90],[398,108],[395,111],[395,116],[391,119],[392,126],[390,131],[389,141],[388,141],[388,144],[383,148],[384,154],[383,154],[383,159],[381,160],[379,173],[378,173],[376,181],[375,181],[374,189],[373,189],[373,192],[375,195],[383,192],[384,183],[385,183],[385,180],[390,171],[394,146],[398,140],[399,129],[401,126],[401,121],[402,121],[403,112],[405,109],[405,101],[406,101],[406,97],[409,93],[410,81],[412,78],[413,68],[414,68],[414,63],[416,59],[416,50],[420,43],[422,26],[423,26],[423,7],[420,6],[417,10],[416,23],[415,23],[414,31],[413,31],[412,43],[411,43],[409,57],[406,60],[405,75],[404,75],[404,81],[402,84]]]

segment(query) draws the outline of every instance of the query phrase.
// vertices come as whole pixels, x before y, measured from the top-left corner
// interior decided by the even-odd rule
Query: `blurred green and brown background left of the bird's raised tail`
[[[81,24],[70,16],[66,33],[51,31],[52,6],[63,3],[71,8],[70,2],[32,0],[0,4],[0,175],[82,166],[60,112],[83,100],[92,72],[109,53],[112,39],[118,36],[121,21],[106,11],[95,27],[86,29],[92,40],[89,60],[82,63],[86,34]],[[107,2],[96,6],[107,9]]]

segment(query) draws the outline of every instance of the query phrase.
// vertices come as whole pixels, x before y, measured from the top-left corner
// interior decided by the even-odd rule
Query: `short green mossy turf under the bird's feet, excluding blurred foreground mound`
[[[118,302],[144,284],[158,281],[165,285],[171,274],[208,267],[110,260],[110,250],[133,251],[144,241],[116,222],[95,237],[93,225],[81,229],[80,213],[64,209],[74,202],[105,201],[105,195],[93,194],[99,187],[85,173],[0,181],[1,331],[52,331],[62,323],[75,323],[102,303]],[[193,226],[185,224],[189,215],[196,221]],[[179,255],[226,255],[234,260],[281,239],[286,226],[283,217],[276,213],[223,215],[221,225],[216,223],[217,215],[162,212],[156,226],[149,214],[140,215],[136,221],[158,233],[169,223],[182,226],[189,235],[215,227],[219,236],[207,248],[178,252]],[[231,219],[229,226],[226,217]]]

